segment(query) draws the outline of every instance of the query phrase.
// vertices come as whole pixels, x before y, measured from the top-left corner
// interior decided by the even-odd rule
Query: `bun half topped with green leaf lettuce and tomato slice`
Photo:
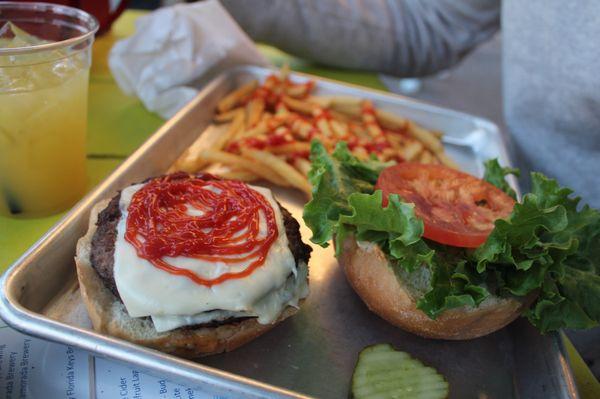
[[[367,307],[428,338],[471,339],[524,315],[542,333],[600,320],[600,212],[532,173],[521,202],[497,160],[483,179],[359,160],[313,142],[304,208]]]

